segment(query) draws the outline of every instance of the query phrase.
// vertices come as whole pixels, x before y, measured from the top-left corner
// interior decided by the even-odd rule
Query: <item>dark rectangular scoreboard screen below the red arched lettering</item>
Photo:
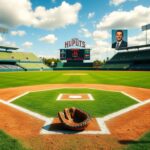
[[[60,60],[83,61],[90,60],[90,49],[60,49]]]

